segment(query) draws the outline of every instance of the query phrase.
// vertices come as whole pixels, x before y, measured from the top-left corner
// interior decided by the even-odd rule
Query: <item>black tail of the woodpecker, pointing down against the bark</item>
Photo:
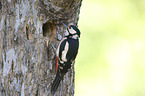
[[[57,74],[56,74],[56,77],[55,77],[55,79],[54,79],[54,81],[53,81],[53,83],[52,83],[52,86],[51,86],[51,93],[52,93],[52,94],[55,94],[55,92],[56,92],[56,90],[57,90],[57,88],[58,88],[58,86],[59,86],[59,83],[60,83],[60,81],[61,81],[62,78],[63,78],[63,76],[61,76],[60,74],[61,74],[61,73],[60,73],[60,71],[58,70],[58,71],[57,71]]]

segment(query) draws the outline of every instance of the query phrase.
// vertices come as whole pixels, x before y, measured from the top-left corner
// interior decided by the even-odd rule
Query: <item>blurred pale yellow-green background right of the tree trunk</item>
[[[75,96],[145,96],[145,0],[83,0]]]

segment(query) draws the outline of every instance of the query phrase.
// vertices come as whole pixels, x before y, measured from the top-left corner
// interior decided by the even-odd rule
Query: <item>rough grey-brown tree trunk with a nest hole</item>
[[[0,96],[51,96],[55,53],[66,28],[77,24],[82,0],[0,1]],[[74,68],[55,96],[73,96]]]

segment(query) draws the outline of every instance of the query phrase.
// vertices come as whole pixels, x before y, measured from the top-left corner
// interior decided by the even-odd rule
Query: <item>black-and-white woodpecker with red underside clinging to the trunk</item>
[[[65,24],[63,23],[63,25]],[[74,25],[65,26],[67,27],[67,34],[60,41],[56,51],[58,68],[51,86],[52,94],[55,94],[60,81],[74,63],[79,48],[80,30]]]

